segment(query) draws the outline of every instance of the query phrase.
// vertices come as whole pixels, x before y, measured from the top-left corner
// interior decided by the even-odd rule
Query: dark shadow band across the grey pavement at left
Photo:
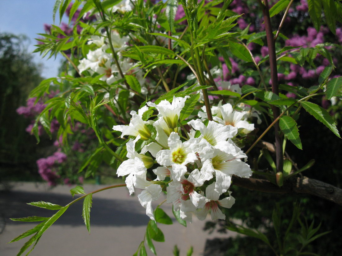
[[[75,196],[76,198],[76,196]],[[50,217],[56,211],[27,205],[28,202],[45,201],[59,205],[66,205],[71,201],[70,196],[53,193],[37,193],[26,191],[0,191],[0,216],[5,218],[6,224],[25,224],[30,222],[13,222],[9,218],[28,216]],[[82,219],[83,200],[71,205],[67,211],[55,222],[57,225],[84,225]],[[98,226],[145,226],[149,218],[145,209],[132,201],[121,199],[94,198],[90,212],[91,225]]]

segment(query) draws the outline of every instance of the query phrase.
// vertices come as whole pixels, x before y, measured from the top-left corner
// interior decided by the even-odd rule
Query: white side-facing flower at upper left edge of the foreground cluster
[[[143,106],[138,114],[134,110],[131,111],[131,122],[129,125],[114,125],[113,130],[121,131],[121,138],[125,135],[141,136],[142,140],[148,140],[151,137],[151,132],[145,125],[142,116],[148,110],[147,106]]]

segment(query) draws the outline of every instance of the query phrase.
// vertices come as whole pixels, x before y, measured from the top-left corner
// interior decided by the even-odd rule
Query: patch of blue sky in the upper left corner
[[[55,0],[0,0],[0,32],[25,34],[30,39],[28,51],[35,49],[37,33],[44,33],[44,23],[52,24],[52,11]],[[58,14],[57,14],[58,15]],[[56,15],[56,25],[59,17]],[[47,60],[39,53],[34,54],[36,62],[43,63],[42,76],[45,78],[57,75],[61,56]]]

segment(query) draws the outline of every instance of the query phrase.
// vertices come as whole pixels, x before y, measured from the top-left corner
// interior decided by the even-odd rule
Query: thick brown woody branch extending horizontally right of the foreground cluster
[[[266,192],[266,193],[298,193],[318,196],[320,198],[332,201],[342,206],[342,189],[332,186],[328,183],[321,182],[308,177],[294,177],[286,181],[282,187],[278,187],[268,180],[254,178],[240,178],[233,175],[232,184],[248,188],[251,190]]]

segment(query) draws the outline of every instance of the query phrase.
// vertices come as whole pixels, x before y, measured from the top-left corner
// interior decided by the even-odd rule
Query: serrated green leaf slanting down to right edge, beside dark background
[[[321,106],[307,101],[301,102],[303,108],[312,116],[314,116],[319,122],[322,122],[328,127],[337,137],[341,138],[339,131],[336,128],[335,121],[329,115],[329,113]]]

